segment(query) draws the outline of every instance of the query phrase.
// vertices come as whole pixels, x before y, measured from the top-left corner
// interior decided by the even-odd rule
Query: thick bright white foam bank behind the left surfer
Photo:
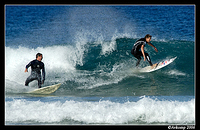
[[[6,47],[6,70],[5,77],[10,81],[15,81],[19,84],[24,83],[24,80],[30,75],[29,72],[25,73],[25,66],[35,59],[38,52],[43,54],[43,62],[45,69],[48,73],[51,72],[66,72],[75,70],[76,64],[82,64],[82,53],[77,52],[77,48],[70,45],[68,46],[51,46],[51,47],[38,47],[36,49],[29,49],[19,47],[13,49]],[[80,56],[81,55],[81,56]]]

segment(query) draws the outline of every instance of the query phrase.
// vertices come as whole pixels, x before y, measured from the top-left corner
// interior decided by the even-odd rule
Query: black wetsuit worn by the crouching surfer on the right
[[[131,50],[131,54],[132,54],[134,57],[136,57],[136,58],[138,59],[138,61],[137,61],[137,63],[136,63],[136,66],[139,65],[139,63],[140,63],[140,61],[141,61],[141,56],[143,56],[143,55],[142,55],[142,52],[140,51],[140,48],[141,48],[142,45],[145,46],[146,43],[147,43],[147,42],[146,42],[146,39],[145,39],[145,38],[141,38],[141,39],[137,40],[137,41],[135,42],[135,44],[133,45],[133,48],[132,48],[132,50]],[[144,54],[145,54],[145,57],[146,57],[147,61],[148,61],[149,64],[152,66],[153,64],[151,63],[151,59],[150,59],[150,57],[149,57],[149,54],[146,53],[146,52],[144,52]]]

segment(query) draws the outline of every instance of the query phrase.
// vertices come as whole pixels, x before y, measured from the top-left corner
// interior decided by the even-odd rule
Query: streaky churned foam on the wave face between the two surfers
[[[130,60],[121,60],[120,63],[116,62],[112,68],[107,65],[98,65],[96,71],[89,72],[89,75],[87,71],[84,71],[82,75],[76,75],[75,79],[77,79],[76,82],[83,84],[78,89],[92,89],[103,85],[117,84],[128,76],[145,78],[130,68],[132,68]]]

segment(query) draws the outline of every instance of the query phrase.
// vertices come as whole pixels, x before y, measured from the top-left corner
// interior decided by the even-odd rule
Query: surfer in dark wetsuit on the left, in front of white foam
[[[28,86],[28,84],[31,81],[37,80],[38,87],[41,88],[41,85],[44,83],[44,80],[45,80],[44,63],[41,62],[42,58],[43,58],[42,54],[37,53],[36,59],[31,61],[28,65],[26,65],[25,72],[28,72],[28,68],[31,66],[31,75],[26,79],[25,86]],[[42,76],[43,76],[42,81],[41,81],[41,72],[40,72],[41,69],[42,69]]]

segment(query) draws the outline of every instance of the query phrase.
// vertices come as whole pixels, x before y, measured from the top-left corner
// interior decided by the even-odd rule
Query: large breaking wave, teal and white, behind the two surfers
[[[179,84],[177,84],[176,78],[180,79],[181,84],[179,86],[182,86],[183,82],[194,81],[192,80],[194,78],[194,69],[185,66],[188,62],[193,63],[191,58],[193,54],[186,53],[185,57],[182,57],[182,52],[177,51],[175,49],[176,46],[173,44],[175,42],[183,52],[188,52],[188,49],[192,51],[193,42],[171,41],[170,43],[166,43],[153,41],[159,53],[156,53],[150,47],[147,47],[145,50],[150,54],[153,63],[162,61],[166,57],[172,58],[177,56],[178,58],[173,64],[163,68],[162,71],[158,70],[156,73],[142,74],[135,71],[136,59],[130,53],[133,43],[137,39],[127,38],[126,34],[113,36],[111,41],[104,41],[103,38],[99,38],[97,41],[90,41],[87,36],[79,38],[74,44],[37,48],[21,46],[18,48],[5,47],[6,92],[16,93],[18,91],[14,91],[14,86],[24,85],[26,78],[30,75],[30,68],[28,73],[24,73],[25,66],[31,60],[35,59],[35,54],[38,52],[42,53],[44,57],[43,62],[46,69],[44,86],[63,83],[61,86],[63,92],[61,93],[66,93],[68,87],[78,90],[105,86],[107,88],[109,86],[116,86],[118,89],[121,88],[120,86],[134,86],[134,89],[137,91],[141,89],[141,86],[177,87]],[[186,48],[187,44],[191,46]],[[168,48],[171,51],[167,50]],[[148,63],[144,61],[140,63],[141,68],[147,65]],[[175,76],[175,79],[171,76]],[[152,80],[152,77],[156,79]],[[192,83],[190,84],[192,85]],[[37,83],[32,82],[30,86],[36,87]],[[123,87],[123,89],[127,88]],[[141,94],[145,93],[140,93],[139,95]]]

